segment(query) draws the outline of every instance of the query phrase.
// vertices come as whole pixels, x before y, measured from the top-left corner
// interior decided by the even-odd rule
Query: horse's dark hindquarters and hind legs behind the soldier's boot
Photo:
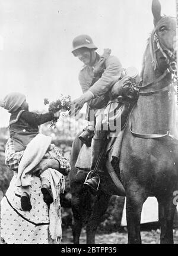
[[[90,169],[79,170],[75,167],[78,154],[83,144],[78,138],[79,135],[80,133],[72,143],[71,173],[69,173],[72,195],[71,207],[73,213],[72,235],[74,244],[79,244],[82,226],[86,224],[86,242],[87,244],[94,244],[98,224],[107,210],[111,196],[120,196],[121,194],[118,192],[107,170],[104,170],[104,175],[103,172],[99,172],[101,184],[97,195],[93,195],[89,190],[84,189],[83,184]]]

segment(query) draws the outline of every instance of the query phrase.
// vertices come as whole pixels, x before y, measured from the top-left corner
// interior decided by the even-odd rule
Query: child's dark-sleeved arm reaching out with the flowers
[[[27,121],[28,124],[32,126],[39,126],[40,124],[47,123],[48,121],[55,120],[60,115],[59,111],[56,113],[45,113],[45,114],[37,114],[30,111],[24,111],[21,114],[21,118]]]

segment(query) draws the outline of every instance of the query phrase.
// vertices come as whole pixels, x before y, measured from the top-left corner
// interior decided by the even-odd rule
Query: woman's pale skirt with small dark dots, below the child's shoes
[[[15,186],[14,173],[8,191],[1,201],[1,238],[8,244],[49,244],[49,208],[43,201],[41,182],[34,177],[30,186],[32,209],[21,209],[21,188]]]

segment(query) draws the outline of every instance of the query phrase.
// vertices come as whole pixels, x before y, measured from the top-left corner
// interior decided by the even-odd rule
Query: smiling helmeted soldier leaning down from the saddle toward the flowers
[[[108,130],[103,129],[101,122],[104,109],[110,100],[110,90],[116,81],[122,77],[123,68],[117,57],[110,55],[109,49],[104,49],[102,56],[98,55],[97,47],[88,35],[77,36],[72,44],[72,53],[84,63],[79,74],[83,94],[72,104],[75,105],[75,113],[77,113],[87,102],[87,118],[89,117],[90,121],[88,127],[83,130],[79,137],[87,146],[91,145],[91,172],[84,185],[97,191],[100,177],[95,172],[95,167],[106,144],[108,134]],[[91,138],[93,138],[92,141]]]

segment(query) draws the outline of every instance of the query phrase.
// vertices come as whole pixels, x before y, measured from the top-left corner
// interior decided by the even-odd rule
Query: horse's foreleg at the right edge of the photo
[[[173,220],[176,211],[176,205],[173,204],[172,196],[167,200],[158,198],[159,205],[159,222],[161,227],[160,243],[172,244],[173,239]]]

